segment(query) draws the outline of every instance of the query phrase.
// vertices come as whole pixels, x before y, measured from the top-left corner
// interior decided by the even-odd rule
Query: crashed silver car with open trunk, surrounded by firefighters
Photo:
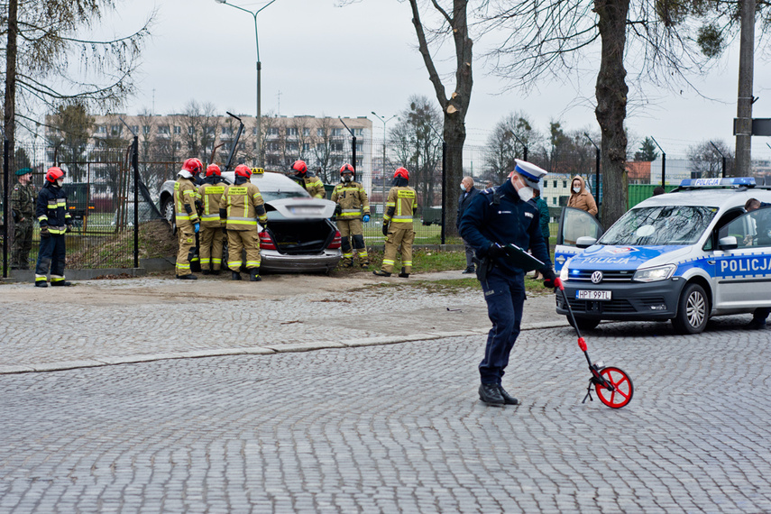
[[[223,179],[234,181],[226,171]],[[305,188],[280,173],[252,175],[265,200],[268,229],[260,228],[262,262],[260,271],[331,271],[342,258],[341,237],[329,218],[335,202],[313,198]],[[161,213],[173,224],[174,180],[161,188]],[[225,245],[226,246],[226,245]],[[226,262],[227,254],[223,256]]]

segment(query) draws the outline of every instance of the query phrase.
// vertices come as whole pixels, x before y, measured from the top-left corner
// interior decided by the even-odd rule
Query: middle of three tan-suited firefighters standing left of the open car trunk
[[[222,170],[216,164],[207,166],[207,178],[198,188],[201,197],[201,231],[199,257],[204,275],[219,275],[222,268],[222,241],[224,221],[219,217],[219,207],[227,184],[222,179]]]

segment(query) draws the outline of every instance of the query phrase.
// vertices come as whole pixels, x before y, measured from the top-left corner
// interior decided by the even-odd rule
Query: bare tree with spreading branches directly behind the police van
[[[730,14],[736,9],[727,3],[659,0],[496,2],[492,6],[490,28],[506,36],[491,57],[497,63],[495,71],[510,78],[512,87],[532,87],[548,76],[564,79],[565,70],[580,73],[587,52],[599,50],[595,116],[601,129],[603,188],[608,191],[602,205],[606,225],[627,210],[625,56],[632,56],[629,61],[638,80],[647,78],[666,87],[673,87],[677,79],[687,83],[687,73],[702,70],[706,60],[720,53],[726,35],[722,29],[736,22]],[[708,19],[723,14],[727,24],[720,29],[709,23]]]

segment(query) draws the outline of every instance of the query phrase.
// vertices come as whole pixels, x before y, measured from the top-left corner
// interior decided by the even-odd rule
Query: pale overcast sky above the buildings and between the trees
[[[228,0],[252,11],[267,0]],[[375,137],[382,123],[418,94],[436,101],[416,49],[409,5],[398,0],[363,0],[335,6],[334,0],[276,0],[258,17],[262,61],[262,114],[368,116]],[[142,57],[139,94],[125,112],[144,108],[155,114],[180,112],[189,100],[211,102],[223,113],[256,114],[254,24],[250,14],[216,0],[131,0],[106,23],[126,30],[157,10],[152,40]],[[475,41],[478,56],[484,39]],[[693,78],[693,89],[676,92],[647,87],[648,103],[631,80],[632,108],[627,120],[637,149],[647,135],[664,147],[667,159],[684,156],[688,146],[705,140],[735,143],[738,49],[732,48],[706,78]],[[437,63],[452,71],[454,62]],[[591,64],[589,65],[591,69]],[[599,62],[594,67],[599,67]],[[581,83],[542,84],[527,95],[504,92],[504,85],[474,62],[471,106],[466,116],[467,142],[482,144],[493,126],[510,112],[523,111],[545,132],[551,120],[565,130],[599,131],[593,112],[596,74]],[[771,72],[756,58],[754,117],[771,117]],[[445,77],[448,90],[454,80]],[[705,98],[706,96],[706,98]],[[396,123],[394,119],[388,126]],[[771,138],[753,138],[753,158],[771,159]]]

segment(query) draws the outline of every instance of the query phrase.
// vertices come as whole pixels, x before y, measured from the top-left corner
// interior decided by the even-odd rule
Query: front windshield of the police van
[[[718,212],[717,207],[640,207],[621,216],[599,244],[665,246],[696,243]]]

